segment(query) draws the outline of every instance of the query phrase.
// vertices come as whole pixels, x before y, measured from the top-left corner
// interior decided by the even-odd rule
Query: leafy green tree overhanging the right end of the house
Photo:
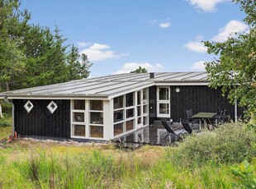
[[[249,31],[237,34],[225,42],[206,41],[208,53],[218,56],[206,63],[206,71],[211,86],[222,87],[223,94],[228,93],[230,102],[239,100],[239,106],[247,107],[249,116],[256,113],[256,2],[234,0],[241,5],[247,16],[244,21],[250,26]]]

